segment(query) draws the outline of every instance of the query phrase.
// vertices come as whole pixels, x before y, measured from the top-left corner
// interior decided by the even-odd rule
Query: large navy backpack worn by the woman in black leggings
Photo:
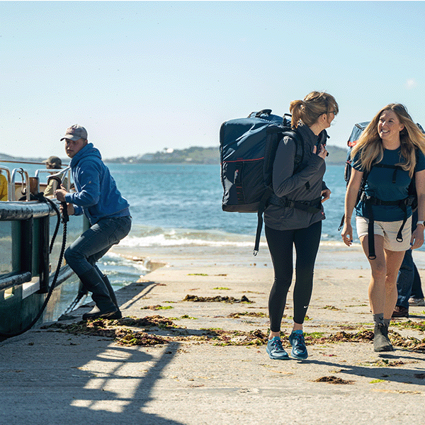
[[[263,211],[273,194],[273,161],[283,136],[292,137],[297,146],[294,173],[304,157],[302,138],[290,127],[287,116],[272,115],[271,109],[263,109],[247,118],[226,121],[220,128],[222,209],[257,213],[254,255],[259,250]]]

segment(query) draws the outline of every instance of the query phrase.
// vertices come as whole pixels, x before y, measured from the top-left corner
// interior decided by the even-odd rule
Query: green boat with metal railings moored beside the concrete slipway
[[[11,170],[8,162],[0,160],[8,184],[8,200],[0,201],[0,339],[55,321],[75,304],[81,283],[63,251],[88,228],[84,216],[73,216],[58,231],[59,201],[40,196],[47,186],[40,183],[42,173],[51,169],[30,176],[21,166]],[[69,167],[54,171],[54,179],[67,175],[71,186]]]

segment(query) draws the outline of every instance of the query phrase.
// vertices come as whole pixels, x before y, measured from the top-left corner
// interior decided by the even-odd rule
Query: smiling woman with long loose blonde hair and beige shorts
[[[424,134],[399,103],[391,103],[375,115],[351,152],[353,170],[341,237],[348,246],[353,242],[351,214],[356,208],[357,234],[371,268],[368,293],[375,323],[373,348],[377,352],[393,349],[388,326],[397,302],[396,280],[404,252],[424,243],[424,153]],[[364,178],[363,196],[357,203]],[[407,201],[412,179],[419,205],[414,232],[412,208]]]

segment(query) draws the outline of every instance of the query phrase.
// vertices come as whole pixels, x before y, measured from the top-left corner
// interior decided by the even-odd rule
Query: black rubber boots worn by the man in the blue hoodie
[[[96,302],[96,306],[91,312],[83,314],[83,320],[120,319],[121,312],[111,300],[111,295],[109,295],[109,291],[96,268],[91,268],[79,278],[84,287],[91,292],[91,297]]]

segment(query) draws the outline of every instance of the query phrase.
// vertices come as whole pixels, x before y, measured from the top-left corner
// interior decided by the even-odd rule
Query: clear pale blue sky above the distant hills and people
[[[425,125],[422,1],[1,1],[0,152],[104,158],[218,146],[223,121],[336,97],[329,144],[404,103]]]

